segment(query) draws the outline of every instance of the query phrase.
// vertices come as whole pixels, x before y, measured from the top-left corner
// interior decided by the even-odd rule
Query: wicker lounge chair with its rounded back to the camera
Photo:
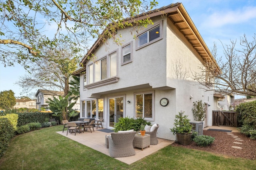
[[[110,156],[116,158],[135,155],[132,145],[135,134],[136,131],[124,133],[112,132],[108,136]]]

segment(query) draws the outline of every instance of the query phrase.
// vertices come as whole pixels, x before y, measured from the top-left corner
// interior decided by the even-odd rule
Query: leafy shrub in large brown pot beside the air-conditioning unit
[[[174,127],[170,130],[173,135],[176,135],[180,145],[189,145],[192,137],[192,125],[189,123],[188,115],[183,114],[184,111],[175,115]]]

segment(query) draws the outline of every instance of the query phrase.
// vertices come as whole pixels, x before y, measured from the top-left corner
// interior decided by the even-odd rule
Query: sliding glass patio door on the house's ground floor
[[[109,127],[114,127],[114,123],[118,122],[124,113],[124,97],[109,98]]]

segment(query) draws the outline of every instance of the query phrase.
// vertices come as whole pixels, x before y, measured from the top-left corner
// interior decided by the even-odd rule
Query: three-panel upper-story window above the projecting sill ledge
[[[117,51],[88,66],[88,84],[117,75]]]

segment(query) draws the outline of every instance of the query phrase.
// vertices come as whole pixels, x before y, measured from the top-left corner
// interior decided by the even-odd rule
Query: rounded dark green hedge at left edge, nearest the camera
[[[14,137],[14,132],[11,121],[6,117],[0,117],[0,158],[6,151],[12,137]]]

